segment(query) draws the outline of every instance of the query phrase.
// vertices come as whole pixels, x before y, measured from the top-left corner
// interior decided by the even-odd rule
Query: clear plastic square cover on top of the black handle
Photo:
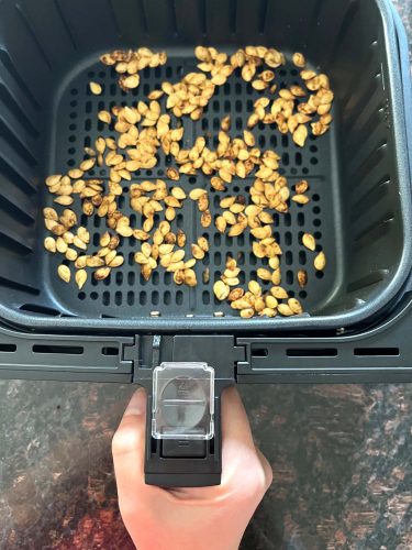
[[[162,363],[153,372],[152,437],[207,440],[214,436],[214,369]]]

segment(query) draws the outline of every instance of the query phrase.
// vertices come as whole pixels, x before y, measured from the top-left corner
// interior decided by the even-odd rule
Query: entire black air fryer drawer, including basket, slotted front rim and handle
[[[213,365],[218,431],[202,460],[167,458],[148,440],[148,481],[164,484],[219,480],[219,398],[230,383],[412,380],[411,88],[404,30],[389,1],[0,0],[0,376],[137,382],[151,394],[162,361]],[[204,231],[189,201],[177,223],[193,240],[207,233],[213,249],[210,283],[196,289],[177,288],[163,273],[145,283],[124,239],[124,266],[78,292],[56,277],[57,260],[43,249],[45,176],[77,165],[103,132],[97,111],[126,99],[96,63],[99,54],[135,45],[168,52],[166,67],[143,75],[138,96],[193,68],[197,44],[302,51],[331,76],[330,133],[300,150],[268,127],[255,130],[259,144],[281,154],[290,183],[311,185],[310,208],[292,205],[276,228],[288,243],[286,286],[307,315],[241,319],[215,302],[212,285],[227,254],[243,254],[246,280],[256,266],[247,238]],[[290,84],[294,68],[279,75]],[[90,95],[93,78],[107,95]],[[213,133],[227,113],[241,131],[256,97],[234,77],[201,122],[185,122],[186,135]],[[160,163],[142,177],[164,172]],[[203,184],[182,179],[187,190]],[[101,232],[96,220],[83,221],[92,235]],[[310,262],[302,228],[329,258],[305,294],[293,275]]]

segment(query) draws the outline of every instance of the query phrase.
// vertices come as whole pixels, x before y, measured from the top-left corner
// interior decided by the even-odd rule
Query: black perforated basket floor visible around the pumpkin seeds
[[[191,53],[188,53],[187,57],[169,57],[167,66],[145,69],[140,88],[132,94],[124,94],[116,84],[114,69],[104,68],[101,64],[96,64],[78,74],[64,90],[58,107],[58,118],[53,129],[55,143],[52,146],[49,172],[64,173],[73,166],[78,166],[85,156],[83,147],[92,145],[98,135],[115,136],[114,131],[110,132],[110,128],[98,120],[99,110],[110,109],[114,105],[131,105],[137,99],[145,99],[145,96],[152,89],[158,88],[162,81],[178,81],[185,73],[194,69],[194,63]],[[291,64],[279,70],[278,75],[278,84],[280,84],[280,77],[281,87],[298,84],[298,72]],[[103,85],[102,96],[91,95],[88,86],[90,79]],[[231,77],[223,87],[216,87],[216,94],[200,121],[192,122],[183,118],[182,146],[190,147],[198,135],[208,135],[211,141],[215,140],[221,119],[226,114],[231,114],[232,118],[232,136],[241,135],[243,129],[246,128],[253,102],[258,97],[261,95],[253,90],[240,76]],[[333,199],[337,194],[338,182],[336,174],[332,177],[334,167],[331,164],[334,132],[319,139],[310,138],[304,148],[294,145],[290,135],[281,135],[270,125],[260,124],[253,132],[260,148],[274,148],[281,155],[280,172],[288,177],[290,186],[302,178],[309,180],[310,204],[302,207],[291,202],[289,213],[275,215],[274,234],[283,250],[282,286],[291,296],[301,300],[307,312],[322,311],[327,307],[334,293],[338,268],[336,265],[336,249],[338,248],[336,228],[339,227],[339,217],[335,210],[337,201]],[[131,183],[166,178],[165,170],[170,162],[170,158],[160,156],[153,170],[137,173],[137,177]],[[101,178],[108,177],[104,168],[97,168],[94,175]],[[187,191],[193,187],[210,189],[213,219],[221,212],[219,202],[224,196],[242,195],[252,184],[253,178],[245,180],[236,178],[232,185],[227,186],[226,193],[221,193],[214,191],[210,187],[209,178],[203,175],[182,176],[179,182],[179,185]],[[246,196],[248,196],[247,193]],[[52,197],[48,194],[45,193],[43,199],[45,204],[52,206]],[[71,208],[80,215],[79,207],[79,201],[77,201]],[[129,186],[124,186],[119,207],[131,217],[132,227],[141,227],[141,217],[130,208]],[[93,253],[98,250],[99,237],[105,230],[105,220],[97,216],[88,218],[81,215],[81,223],[91,233],[92,246],[89,246],[88,252]],[[75,283],[67,285],[57,278],[56,270],[59,257],[47,253],[41,255],[43,276],[47,280],[46,287],[49,288],[49,298],[55,304],[54,307],[66,315],[98,317],[142,317],[153,311],[159,311],[162,316],[191,314],[213,316],[216,312],[237,316],[229,304],[215,299],[212,287],[224,271],[227,256],[235,257],[242,268],[241,285],[245,285],[245,282],[249,279],[256,279],[256,270],[266,265],[266,260],[258,260],[252,253],[252,235],[248,230],[245,234],[234,239],[219,233],[214,223],[205,230],[200,226],[200,213],[191,200],[183,201],[183,208],[178,210],[177,218],[172,222],[172,230],[177,228],[181,228],[187,234],[187,257],[191,257],[190,244],[196,242],[198,237],[204,235],[210,243],[210,253],[196,265],[199,282],[197,287],[177,286],[172,280],[172,274],[162,267],[153,273],[148,282],[145,282],[140,274],[140,266],[134,263],[133,258],[134,253],[140,250],[140,242],[134,238],[122,238],[119,252],[125,258],[123,266],[113,270],[110,277],[103,282],[89,277],[81,292],[77,289]],[[319,250],[322,248],[327,255],[327,268],[324,273],[315,272],[313,253],[308,252],[301,244],[301,235],[304,231],[314,234]],[[42,241],[43,239],[40,242]],[[210,270],[208,284],[202,280],[202,273],[205,268]],[[309,283],[304,289],[299,288],[296,278],[300,268],[308,271]],[[270,285],[267,287],[270,288]]]

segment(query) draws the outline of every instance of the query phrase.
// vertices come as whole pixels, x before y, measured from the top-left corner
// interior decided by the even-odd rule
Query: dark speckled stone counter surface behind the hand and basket
[[[241,391],[274,469],[243,549],[412,549],[412,385]],[[132,392],[0,381],[0,549],[134,548],[110,453]]]

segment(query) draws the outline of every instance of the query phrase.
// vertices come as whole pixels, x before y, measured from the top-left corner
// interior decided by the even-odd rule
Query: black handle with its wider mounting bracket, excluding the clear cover
[[[222,473],[221,395],[235,383],[235,365],[244,352],[231,336],[147,337],[141,345],[134,382],[147,392],[145,481],[163,487],[219,485]],[[145,345],[146,344],[146,345]],[[164,361],[207,363],[214,370],[214,437],[205,441],[152,437],[153,373]]]

